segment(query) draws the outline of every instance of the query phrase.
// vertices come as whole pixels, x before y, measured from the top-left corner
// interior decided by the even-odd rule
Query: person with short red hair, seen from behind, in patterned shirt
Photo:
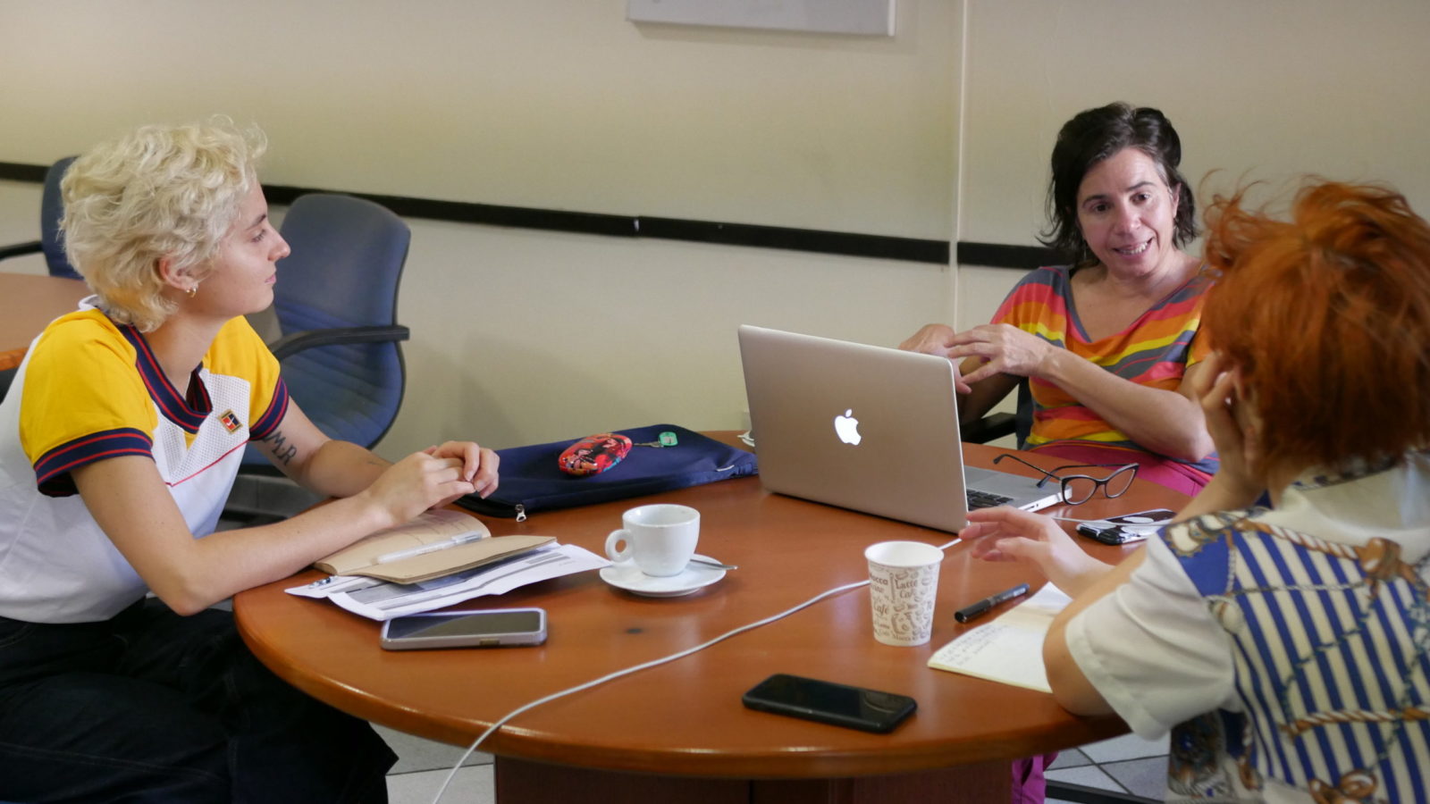
[[[1007,508],[962,536],[1074,597],[1054,695],[1171,731],[1171,800],[1426,801],[1430,225],[1374,186],[1310,185],[1290,220],[1237,195],[1207,265],[1221,466],[1177,522],[1115,568]]]

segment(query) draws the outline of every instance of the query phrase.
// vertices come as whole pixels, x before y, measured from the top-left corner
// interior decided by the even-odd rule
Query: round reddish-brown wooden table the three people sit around
[[[1004,451],[965,445],[965,458],[975,466],[991,465],[998,452]],[[1058,465],[1057,459],[1030,458],[1047,468]],[[1008,462],[998,468],[1017,471]],[[1138,481],[1123,498],[1097,498],[1077,506],[1075,515],[1175,509],[1185,501]],[[739,569],[679,598],[636,597],[585,572],[462,607],[545,608],[551,637],[536,648],[382,651],[378,622],[283,592],[317,572],[237,595],[237,624],[265,664],[309,694],[400,731],[468,745],[529,701],[698,645],[832,587],[865,579],[864,548],[874,542],[941,545],[954,538],[772,495],[758,478],[538,512],[522,524],[485,521],[495,535],[552,535],[601,554],[606,534],[621,525],[621,512],[644,502],[698,508],[699,552]],[[1107,561],[1133,549],[1080,541]],[[967,800],[1007,801],[1008,760],[1125,731],[1115,718],[1072,717],[1042,692],[927,667],[934,651],[981,624],[960,625],[954,611],[1020,581],[1041,585],[1025,568],[980,562],[955,545],[944,559],[934,635],[927,645],[875,642],[865,587],[691,657],[523,712],[482,744],[498,757],[498,798],[784,803],[837,795],[839,801],[919,801],[957,785]],[[772,672],[908,694],[918,701],[918,711],[892,734],[881,735],[745,710],[741,694]]]

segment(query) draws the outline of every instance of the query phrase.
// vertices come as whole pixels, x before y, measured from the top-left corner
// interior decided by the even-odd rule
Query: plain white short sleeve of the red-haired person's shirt
[[[1238,708],[1231,638],[1160,538],[1148,539],[1131,578],[1074,617],[1065,634],[1083,675],[1140,737]]]

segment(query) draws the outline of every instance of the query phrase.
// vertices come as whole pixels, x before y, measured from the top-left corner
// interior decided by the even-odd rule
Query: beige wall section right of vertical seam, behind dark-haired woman
[[[1034,245],[1058,127],[1113,100],[1160,107],[1210,193],[1303,173],[1393,182],[1430,215],[1424,0],[971,0],[960,237]],[[1015,276],[962,269],[960,325]]]

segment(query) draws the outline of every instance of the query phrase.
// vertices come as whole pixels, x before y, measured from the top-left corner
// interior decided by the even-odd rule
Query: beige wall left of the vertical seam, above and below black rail
[[[267,130],[272,183],[947,240],[961,17],[899,17],[852,37],[635,26],[623,0],[0,0],[0,160],[222,110]],[[27,223],[0,242],[34,236],[37,196],[0,183]],[[897,343],[951,309],[937,265],[409,223],[389,456],[738,428],[739,323]]]

